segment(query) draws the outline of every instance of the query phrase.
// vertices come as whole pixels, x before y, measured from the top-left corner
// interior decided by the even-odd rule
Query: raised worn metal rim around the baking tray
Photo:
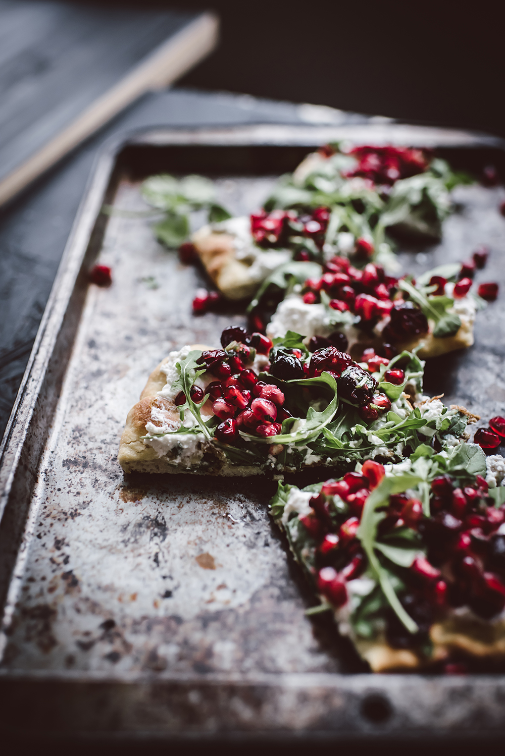
[[[116,168],[119,154],[125,147],[153,146],[163,147],[171,145],[209,145],[209,146],[240,146],[240,145],[273,145],[273,146],[303,146],[317,147],[318,144],[330,139],[351,139],[357,135],[355,141],[364,141],[363,135],[368,135],[370,141],[383,140],[396,144],[428,144],[439,147],[494,147],[505,150],[505,140],[479,132],[469,132],[457,129],[438,129],[431,126],[411,126],[398,123],[376,123],[356,125],[283,125],[270,123],[255,123],[246,125],[212,125],[187,128],[169,128],[166,126],[151,126],[148,129],[134,129],[107,140],[95,157],[85,191],[76,213],[76,218],[70,231],[64,253],[57,269],[53,287],[45,307],[42,321],[33,345],[32,352],[26,366],[20,389],[14,403],[5,435],[0,445],[0,523],[5,515],[5,509],[11,495],[14,476],[20,464],[20,454],[27,442],[29,422],[33,417],[36,401],[48,361],[57,342],[57,336],[64,321],[65,311],[73,293],[73,286],[82,265],[86,250],[91,240],[94,226],[101,215],[104,195],[113,172]],[[410,137],[409,137],[410,135]],[[419,141],[417,141],[419,140]],[[42,442],[43,444],[43,442]],[[9,582],[11,576],[9,576]],[[3,607],[2,607],[3,612]],[[20,671],[0,669],[0,684],[11,683],[97,683],[127,686],[160,685],[172,686],[179,683],[191,687],[194,685],[222,685],[231,686],[266,685],[280,686],[283,682],[288,687],[296,684],[313,686],[322,685],[324,688],[372,690],[386,695],[393,686],[407,688],[414,682],[417,686],[432,686],[435,682],[442,689],[465,689],[469,686],[486,690],[493,690],[495,697],[505,696],[505,676],[500,674],[476,674],[471,677],[444,677],[425,674],[340,674],[340,673],[271,673],[271,674],[102,674],[85,671]],[[394,683],[394,684],[393,684]],[[393,731],[386,728],[389,736]],[[386,730],[384,731],[386,734]],[[376,729],[374,730],[376,732]],[[249,731],[250,734],[251,731]],[[419,730],[416,731],[417,733]],[[438,731],[437,731],[438,732]],[[505,733],[505,722],[493,733]],[[272,730],[273,733],[273,730]],[[441,734],[442,730],[438,734]],[[175,734],[175,733],[173,733]],[[289,734],[289,733],[285,733]],[[292,733],[293,734],[293,733]],[[398,733],[397,733],[398,734]],[[434,734],[434,732],[433,732]],[[366,733],[354,733],[355,736],[365,736]]]

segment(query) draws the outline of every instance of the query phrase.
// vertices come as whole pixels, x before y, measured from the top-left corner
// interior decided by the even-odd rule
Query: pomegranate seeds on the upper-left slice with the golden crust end
[[[330,220],[327,207],[317,207],[311,214],[299,214],[295,210],[259,210],[251,215],[251,234],[258,246],[286,246],[289,237],[305,237],[314,240],[321,248]],[[307,250],[297,253],[297,259],[308,260]]]

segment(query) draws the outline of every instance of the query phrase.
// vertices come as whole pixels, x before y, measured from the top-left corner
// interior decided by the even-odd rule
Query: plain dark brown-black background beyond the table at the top
[[[505,135],[503,2],[101,0],[212,9],[217,51],[180,85]]]

